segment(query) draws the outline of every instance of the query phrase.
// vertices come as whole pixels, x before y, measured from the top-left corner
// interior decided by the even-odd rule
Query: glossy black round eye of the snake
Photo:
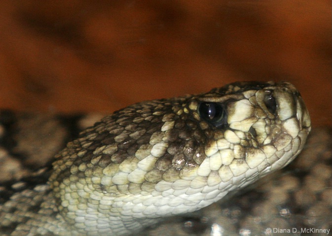
[[[198,113],[202,119],[216,127],[226,124],[227,115],[220,103],[202,102],[199,104]]]

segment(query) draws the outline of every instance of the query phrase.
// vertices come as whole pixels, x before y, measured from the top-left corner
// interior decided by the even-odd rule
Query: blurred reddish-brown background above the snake
[[[288,80],[331,125],[330,0],[0,1],[0,108],[112,112]]]

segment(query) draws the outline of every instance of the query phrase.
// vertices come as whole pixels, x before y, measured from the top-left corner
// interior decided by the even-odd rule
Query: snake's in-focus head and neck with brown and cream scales
[[[220,200],[288,165],[311,124],[287,82],[237,82],[145,101],[56,155],[47,183],[0,208],[2,235],[124,236]],[[1,234],[0,234],[1,235]]]

